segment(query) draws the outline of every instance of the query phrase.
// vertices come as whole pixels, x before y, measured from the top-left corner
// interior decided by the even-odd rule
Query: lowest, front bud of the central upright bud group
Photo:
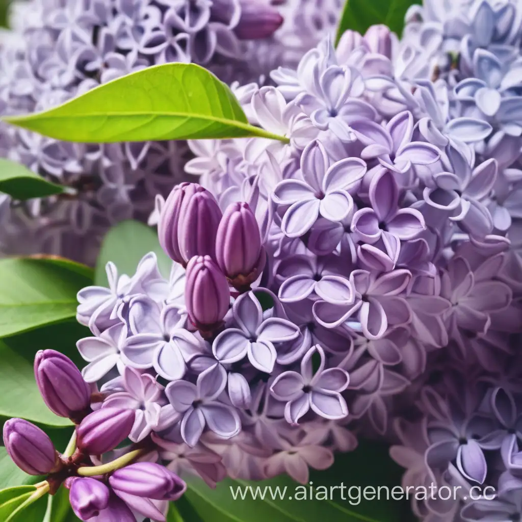
[[[188,262],[185,305],[188,317],[199,330],[216,328],[228,312],[229,284],[210,256],[193,257]]]

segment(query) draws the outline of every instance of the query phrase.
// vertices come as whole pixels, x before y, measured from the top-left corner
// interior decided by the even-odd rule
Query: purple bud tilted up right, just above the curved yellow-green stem
[[[101,455],[114,449],[131,433],[135,410],[102,408],[88,415],[76,428],[76,445],[89,455]]]

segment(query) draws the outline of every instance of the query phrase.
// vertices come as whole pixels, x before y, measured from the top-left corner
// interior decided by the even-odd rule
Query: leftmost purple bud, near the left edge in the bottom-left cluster
[[[30,475],[46,475],[60,464],[48,435],[23,419],[4,424],[4,445],[13,462]]]

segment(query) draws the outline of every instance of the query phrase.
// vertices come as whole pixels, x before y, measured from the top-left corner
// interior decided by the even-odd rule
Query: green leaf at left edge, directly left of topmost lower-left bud
[[[70,426],[45,406],[34,381],[32,364],[0,341],[0,415],[50,426]]]

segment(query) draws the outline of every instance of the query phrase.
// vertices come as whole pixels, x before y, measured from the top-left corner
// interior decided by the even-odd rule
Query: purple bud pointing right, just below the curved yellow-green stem
[[[137,462],[114,471],[111,488],[153,500],[177,500],[186,484],[172,471],[153,462]]]

